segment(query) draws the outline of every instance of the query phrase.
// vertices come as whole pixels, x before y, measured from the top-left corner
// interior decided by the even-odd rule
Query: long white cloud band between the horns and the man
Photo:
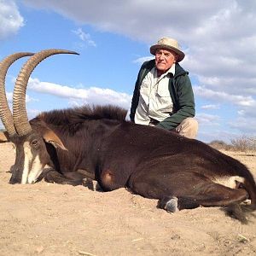
[[[41,82],[38,79],[30,78],[28,88],[40,93],[67,98],[70,105],[79,106],[81,104],[113,104],[123,108],[131,107],[131,96],[126,93],[117,92],[110,89],[97,87],[73,88],[67,85]]]

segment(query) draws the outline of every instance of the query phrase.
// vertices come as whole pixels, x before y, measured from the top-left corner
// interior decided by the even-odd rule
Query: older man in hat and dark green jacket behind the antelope
[[[195,138],[198,123],[188,72],[178,62],[184,58],[177,41],[160,38],[150,47],[154,60],[143,63],[131,101],[132,122],[153,125]]]

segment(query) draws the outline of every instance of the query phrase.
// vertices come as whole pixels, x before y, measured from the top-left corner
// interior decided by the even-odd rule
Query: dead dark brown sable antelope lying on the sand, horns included
[[[49,49],[35,55],[11,55],[0,64],[1,119],[6,128],[0,140],[15,144],[16,159],[9,183],[35,183],[45,166],[52,183],[83,183],[95,178],[104,191],[126,187],[144,197],[159,199],[169,212],[184,208],[231,207],[246,221],[241,202],[256,209],[256,185],[241,162],[198,140],[171,131],[125,121],[126,111],[113,106],[68,108],[39,114],[28,121],[26,85],[32,70],[49,55],[76,54]],[[4,77],[16,59],[32,55],[15,83],[13,115],[5,96]]]

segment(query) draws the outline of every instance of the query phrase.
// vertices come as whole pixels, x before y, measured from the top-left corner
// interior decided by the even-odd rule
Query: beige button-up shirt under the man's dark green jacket
[[[169,91],[169,78],[175,73],[175,63],[157,78],[157,70],[153,67],[143,79],[140,98],[135,113],[135,123],[148,125],[150,118],[162,121],[172,113],[172,98]]]

